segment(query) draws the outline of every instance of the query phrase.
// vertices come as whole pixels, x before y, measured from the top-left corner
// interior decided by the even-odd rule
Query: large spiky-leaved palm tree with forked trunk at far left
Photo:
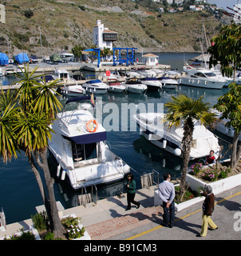
[[[39,76],[34,74],[36,70],[37,68],[34,68],[29,72],[27,66],[22,70],[22,74],[17,74],[18,78],[21,78],[21,86],[16,98],[10,100],[3,92],[0,95],[0,152],[3,160],[7,162],[13,155],[17,157],[16,150],[25,151],[41,191],[50,228],[55,237],[62,237],[64,230],[58,216],[53,178],[50,176],[47,162],[48,140],[51,139],[50,132],[53,132],[49,125],[61,107],[61,103],[52,92],[53,87],[59,84],[59,80],[49,83],[37,80]],[[13,102],[17,100],[19,105],[15,108]],[[39,170],[44,173],[47,190],[43,186]]]

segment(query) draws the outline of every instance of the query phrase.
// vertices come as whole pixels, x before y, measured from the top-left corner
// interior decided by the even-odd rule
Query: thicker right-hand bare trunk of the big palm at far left
[[[46,187],[49,194],[49,206],[50,206],[49,217],[52,219],[52,222],[53,222],[53,226],[52,226],[53,234],[56,238],[63,238],[64,227],[62,226],[61,220],[58,216],[57,204],[56,204],[56,199],[55,199],[54,190],[53,190],[54,180],[53,178],[51,178],[48,161],[47,161],[47,148],[42,150],[40,152],[40,155],[41,155],[41,160],[43,165],[42,169],[45,174]]]

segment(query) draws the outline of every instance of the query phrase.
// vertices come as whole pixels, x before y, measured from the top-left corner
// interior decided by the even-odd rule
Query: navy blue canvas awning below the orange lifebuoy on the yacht
[[[62,135],[63,138],[73,142],[75,144],[89,144],[93,142],[101,142],[106,140],[106,132],[101,133],[89,133],[85,135],[78,135],[75,137],[67,137]]]

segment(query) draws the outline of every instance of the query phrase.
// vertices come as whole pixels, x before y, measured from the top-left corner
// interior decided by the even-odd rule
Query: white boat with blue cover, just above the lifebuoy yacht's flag
[[[86,76],[87,78],[88,76]],[[87,80],[82,87],[86,93],[89,94],[106,94],[109,86],[105,82],[101,82],[100,79]]]

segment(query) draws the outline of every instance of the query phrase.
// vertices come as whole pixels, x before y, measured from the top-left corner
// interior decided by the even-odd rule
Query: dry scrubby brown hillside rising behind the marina
[[[6,23],[0,24],[0,51],[9,51],[10,56],[22,50],[49,55],[79,44],[89,48],[97,19],[118,32],[115,47],[136,47],[139,52],[200,51],[202,22],[209,38],[221,27],[205,11],[160,14],[141,6],[136,9],[131,0],[6,0],[3,4]]]

